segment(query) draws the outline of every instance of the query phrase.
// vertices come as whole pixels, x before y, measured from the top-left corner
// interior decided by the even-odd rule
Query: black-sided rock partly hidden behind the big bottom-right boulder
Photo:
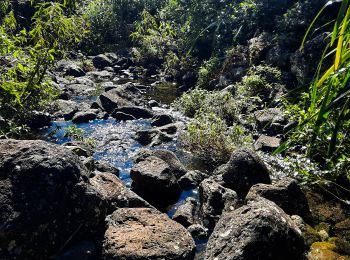
[[[246,200],[263,197],[271,200],[288,215],[299,215],[304,219],[310,217],[310,209],[305,194],[298,182],[291,178],[283,178],[274,184],[256,184],[250,188]]]

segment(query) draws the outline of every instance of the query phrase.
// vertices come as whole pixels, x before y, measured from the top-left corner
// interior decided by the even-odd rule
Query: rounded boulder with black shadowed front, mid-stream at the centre
[[[168,163],[158,157],[150,156],[136,163],[130,177],[136,193],[156,207],[163,208],[175,203],[181,194],[174,172]]]

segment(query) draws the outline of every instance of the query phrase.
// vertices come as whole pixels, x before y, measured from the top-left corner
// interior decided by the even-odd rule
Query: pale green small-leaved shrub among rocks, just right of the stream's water
[[[187,126],[185,143],[210,161],[226,162],[237,147],[249,146],[252,138],[239,125],[229,127],[215,113],[197,113]]]

